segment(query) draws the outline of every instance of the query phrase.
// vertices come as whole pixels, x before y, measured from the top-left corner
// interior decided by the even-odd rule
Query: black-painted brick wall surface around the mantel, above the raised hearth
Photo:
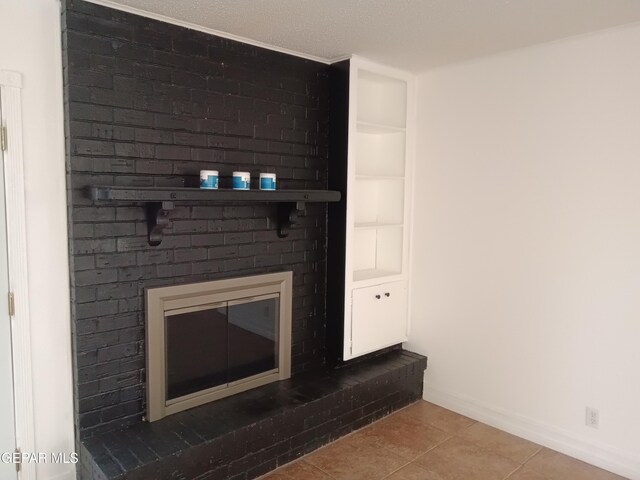
[[[326,205],[280,239],[274,205],[177,204],[150,247],[141,205],[97,205],[84,187],[183,185],[217,169],[223,187],[248,170],[324,189],[327,67],[84,1],[63,10],[80,436],[141,421],[146,287],[292,270],[293,373],[324,363]]]

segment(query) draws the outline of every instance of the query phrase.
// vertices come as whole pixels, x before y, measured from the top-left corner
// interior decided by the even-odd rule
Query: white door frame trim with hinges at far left
[[[31,321],[27,276],[27,235],[22,150],[22,75],[0,70],[0,125],[7,127],[4,155],[7,209],[9,288],[14,294],[11,316],[16,443],[22,452],[35,452],[33,376],[31,367]],[[4,294],[2,294],[4,296]],[[5,300],[0,299],[0,305]],[[0,307],[4,308],[4,307]],[[35,462],[23,463],[20,480],[35,480]]]

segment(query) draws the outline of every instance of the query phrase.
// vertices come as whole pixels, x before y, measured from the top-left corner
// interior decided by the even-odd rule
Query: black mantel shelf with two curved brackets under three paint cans
[[[279,203],[278,235],[286,237],[306,202],[339,202],[341,194],[335,190],[208,190],[183,187],[119,187],[92,185],[89,196],[96,202],[144,203],[147,212],[149,245],[162,242],[164,228],[169,225],[168,213],[174,202],[260,202]]]

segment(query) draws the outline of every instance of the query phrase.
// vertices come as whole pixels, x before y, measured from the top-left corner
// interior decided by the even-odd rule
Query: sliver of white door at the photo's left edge
[[[7,217],[4,187],[4,156],[0,149],[0,455],[6,460],[16,448],[13,405],[13,359],[9,318],[9,268],[7,265]],[[0,478],[17,479],[15,464],[0,461]]]

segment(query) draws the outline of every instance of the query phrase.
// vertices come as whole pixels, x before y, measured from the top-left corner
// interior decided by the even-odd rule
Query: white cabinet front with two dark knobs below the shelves
[[[407,286],[393,282],[352,292],[351,357],[407,340]]]

